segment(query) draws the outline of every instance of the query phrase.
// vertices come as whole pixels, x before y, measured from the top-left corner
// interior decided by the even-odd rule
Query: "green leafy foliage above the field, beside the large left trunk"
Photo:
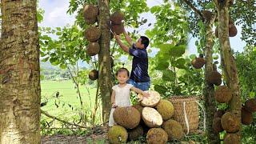
[[[40,35],[42,62],[50,61],[54,66],[59,65],[65,69],[68,64],[75,66],[79,59],[89,62],[86,56],[85,46],[88,42],[83,40],[82,30],[78,26],[57,27],[56,30],[41,28],[46,34],[55,34],[57,40],[50,38],[49,35]]]

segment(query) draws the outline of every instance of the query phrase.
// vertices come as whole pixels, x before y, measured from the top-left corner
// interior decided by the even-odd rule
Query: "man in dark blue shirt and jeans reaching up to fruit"
[[[133,65],[128,83],[134,85],[140,90],[149,90],[150,76],[148,74],[148,57],[146,47],[149,46],[150,40],[145,36],[141,36],[141,38],[138,38],[137,42],[133,42],[130,36],[126,33],[126,30],[123,30],[123,34],[130,47],[122,43],[119,35],[114,34],[114,38],[116,38],[118,45],[122,50],[133,56]]]

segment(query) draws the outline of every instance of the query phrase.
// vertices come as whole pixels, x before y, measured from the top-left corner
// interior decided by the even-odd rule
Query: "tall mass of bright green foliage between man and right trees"
[[[191,58],[185,58],[188,22],[186,11],[175,2],[164,2],[150,9],[157,22],[152,30],[146,30],[151,46],[159,49],[150,59],[153,65],[154,89],[164,97],[202,93],[202,70],[190,67]],[[167,43],[167,44],[162,44]],[[161,73],[154,72],[159,70]]]

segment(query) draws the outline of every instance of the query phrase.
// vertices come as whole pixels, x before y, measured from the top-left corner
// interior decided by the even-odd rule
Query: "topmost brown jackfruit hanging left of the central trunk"
[[[94,5],[85,5],[83,7],[83,16],[85,19],[93,19],[98,16],[98,7]]]

